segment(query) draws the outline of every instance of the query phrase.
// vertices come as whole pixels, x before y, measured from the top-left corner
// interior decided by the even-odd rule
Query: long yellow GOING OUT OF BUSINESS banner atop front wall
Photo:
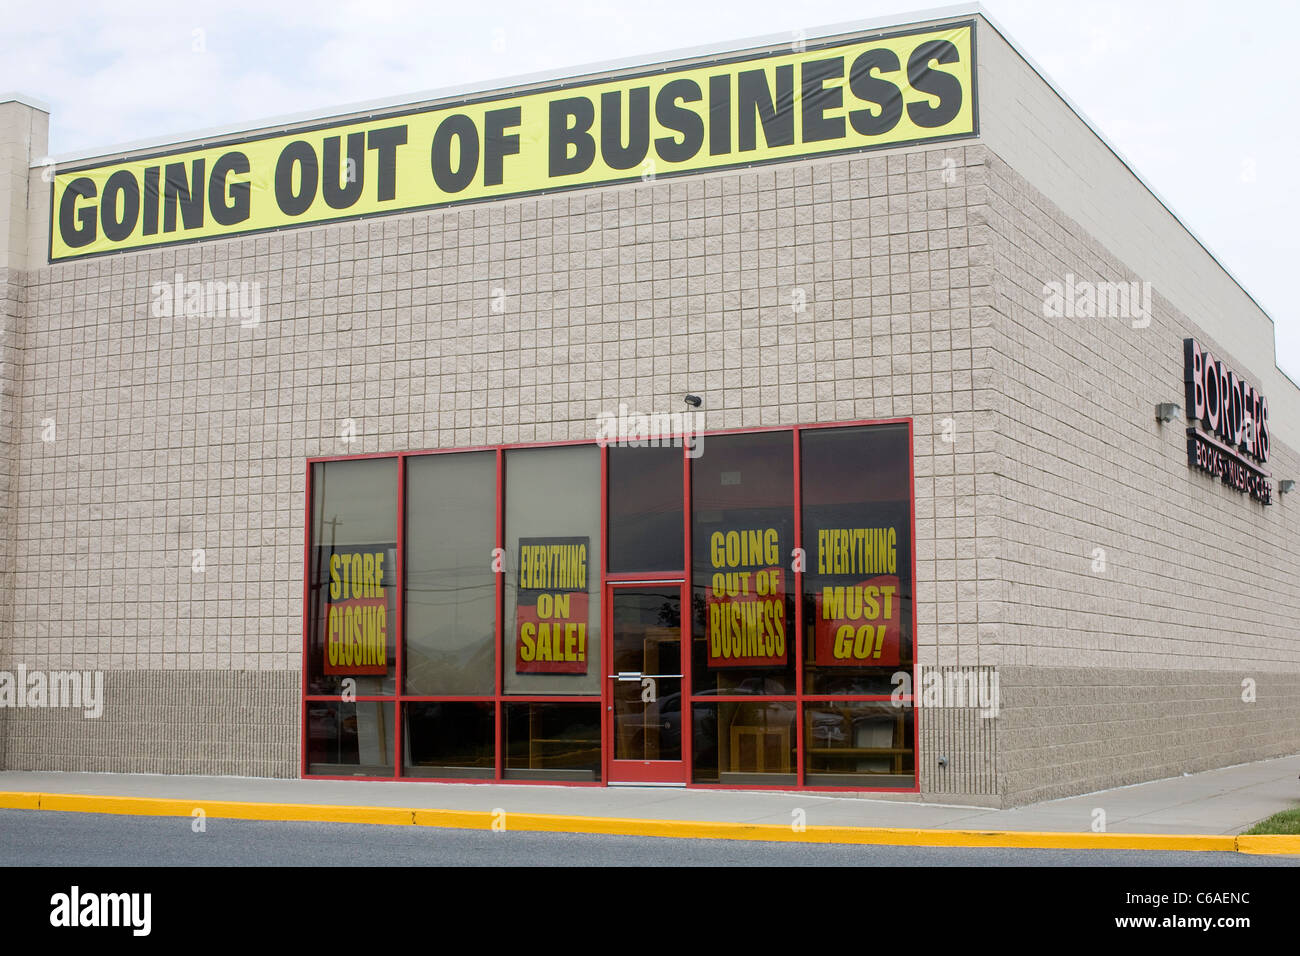
[[[792,44],[58,172],[49,259],[971,135],[972,30]]]

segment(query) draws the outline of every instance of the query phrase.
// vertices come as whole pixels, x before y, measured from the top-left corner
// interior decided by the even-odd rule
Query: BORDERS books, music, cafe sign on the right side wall
[[[1183,339],[1187,418],[1187,463],[1223,484],[1269,505],[1273,485],[1269,460],[1269,402],[1249,382],[1202,349]]]

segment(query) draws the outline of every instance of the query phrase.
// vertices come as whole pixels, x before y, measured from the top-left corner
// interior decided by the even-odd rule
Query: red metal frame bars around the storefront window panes
[[[716,434],[750,434],[759,432],[789,432],[790,441],[794,446],[794,541],[798,546],[802,546],[803,541],[803,490],[802,490],[802,475],[801,475],[801,436],[803,432],[815,431],[822,428],[859,428],[871,425],[907,425],[907,510],[909,520],[911,523],[911,548],[909,549],[910,563],[909,568],[911,576],[911,661],[913,661],[913,676],[915,678],[916,666],[916,453],[915,453],[915,424],[911,418],[892,418],[892,419],[859,419],[853,421],[829,421],[806,425],[770,425],[759,428],[727,428],[703,432],[703,436]],[[682,541],[684,541],[684,554],[682,554],[682,568],[680,571],[644,574],[644,572],[623,572],[623,574],[607,574],[606,567],[608,566],[608,447],[597,442],[595,440],[576,440],[576,441],[542,441],[542,442],[511,442],[503,445],[476,445],[467,447],[451,447],[451,449],[428,449],[420,451],[373,451],[360,455],[324,455],[307,459],[307,485],[304,494],[304,525],[303,525],[303,658],[302,658],[302,683],[300,683],[300,710],[299,710],[299,745],[300,745],[300,775],[306,779],[313,780],[410,780],[410,782],[425,782],[425,783],[510,783],[510,784],[542,784],[542,786],[564,786],[564,787],[604,787],[608,780],[610,761],[612,760],[612,740],[608,739],[608,722],[604,719],[606,709],[611,704],[610,685],[607,680],[601,680],[601,693],[599,695],[507,695],[503,693],[503,653],[502,653],[502,639],[503,639],[503,618],[504,618],[504,593],[506,583],[504,575],[497,575],[497,588],[495,588],[495,627],[494,627],[494,656],[495,656],[495,671],[494,671],[494,693],[491,696],[426,696],[426,695],[407,695],[403,693],[403,646],[406,644],[406,576],[404,576],[404,557],[406,557],[406,462],[408,458],[416,458],[422,455],[441,455],[441,454],[462,454],[469,451],[493,451],[497,455],[497,529],[495,529],[495,546],[504,549],[506,546],[506,488],[504,488],[504,462],[506,451],[510,449],[534,449],[534,447],[560,447],[569,445],[597,445],[601,449],[601,596],[602,596],[602,615],[606,613],[604,596],[607,594],[607,585],[610,583],[618,583],[620,580],[647,580],[655,576],[664,579],[677,579],[685,578],[686,591],[692,585],[692,553],[690,553],[690,458],[685,455],[685,449],[682,449]],[[385,777],[363,777],[352,774],[309,774],[308,773],[308,722],[307,722],[307,705],[312,701],[326,701],[338,702],[337,695],[309,695],[307,692],[307,676],[308,676],[308,649],[309,649],[309,635],[311,635],[311,620],[309,620],[309,588],[311,588],[311,520],[312,520],[312,467],[316,464],[322,464],[328,462],[350,462],[361,460],[368,458],[395,458],[398,459],[398,515],[396,515],[396,675],[394,683],[393,696],[382,695],[359,695],[356,697],[358,702],[363,701],[381,701],[391,702],[394,710],[394,727],[393,727],[393,744],[394,744],[394,758],[393,758],[393,775]],[[685,627],[685,622],[684,622]],[[608,635],[602,627],[601,641],[602,652],[603,644]],[[919,777],[919,761],[916,747],[919,743],[919,731],[916,726],[916,711],[915,711],[915,698],[914,695],[905,695],[902,702],[905,706],[913,709],[911,721],[911,748],[913,748],[913,786],[911,787],[833,787],[828,784],[823,786],[807,786],[805,783],[805,743],[803,743],[803,711],[809,704],[871,704],[871,702],[888,702],[893,700],[889,695],[824,695],[824,693],[805,693],[803,692],[803,572],[794,572],[794,687],[796,693],[793,695],[774,695],[774,696],[716,696],[708,695],[699,697],[698,701],[705,702],[728,702],[738,701],[753,704],[758,700],[770,701],[774,704],[788,702],[794,706],[794,721],[796,721],[796,783],[792,787],[788,783],[776,784],[724,784],[724,783],[696,783],[689,779],[693,769],[693,737],[690,723],[694,714],[694,704],[697,697],[693,692],[686,693],[690,689],[690,672],[689,662],[690,654],[685,654],[684,666],[688,667],[685,671],[685,679],[682,682],[682,692],[686,698],[682,704],[682,721],[685,726],[682,727],[682,760],[685,763],[686,782],[685,786],[693,790],[774,790],[774,791],[814,791],[814,792],[853,792],[853,793],[919,793],[920,792],[920,777]],[[602,666],[603,666],[603,653],[602,653]],[[403,777],[402,774],[402,708],[407,702],[424,702],[424,701],[467,701],[478,704],[491,704],[494,705],[495,715],[495,773],[491,778],[486,777],[454,777],[454,778],[439,778],[439,777]],[[503,734],[503,721],[502,721],[502,708],[504,704],[534,704],[534,702],[584,702],[598,706],[598,714],[601,721],[601,779],[599,780],[541,780],[541,779],[517,779],[504,777],[504,753],[502,737]]]

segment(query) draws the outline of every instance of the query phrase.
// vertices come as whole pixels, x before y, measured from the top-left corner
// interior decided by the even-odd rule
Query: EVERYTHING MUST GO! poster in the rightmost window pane
[[[894,528],[818,532],[820,587],[812,624],[818,666],[898,665],[902,600],[897,544]]]

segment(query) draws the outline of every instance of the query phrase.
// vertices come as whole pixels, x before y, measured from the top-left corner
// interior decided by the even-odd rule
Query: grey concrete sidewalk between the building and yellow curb
[[[280,780],[246,777],[0,771],[5,793],[152,797],[204,803],[404,808],[567,818],[708,821],[789,827],[1232,835],[1279,810],[1300,806],[1300,754],[1152,783],[997,810],[874,800],[870,796],[714,791],[667,787],[552,787],[368,780]],[[3,803],[3,801],[0,801]],[[269,808],[268,808],[269,809]],[[125,810],[124,810],[125,812]]]

